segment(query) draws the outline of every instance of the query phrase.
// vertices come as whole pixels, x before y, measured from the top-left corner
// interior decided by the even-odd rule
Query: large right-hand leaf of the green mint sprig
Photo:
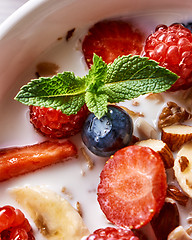
[[[108,65],[105,85],[98,92],[108,95],[111,103],[130,100],[147,93],[168,90],[178,79],[157,62],[139,56],[122,56]]]

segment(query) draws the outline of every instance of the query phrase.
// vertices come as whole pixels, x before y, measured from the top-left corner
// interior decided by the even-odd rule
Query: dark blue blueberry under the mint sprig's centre
[[[110,105],[108,113],[98,119],[91,113],[82,130],[82,139],[94,154],[108,157],[120,148],[129,145],[132,139],[133,122],[122,108]]]

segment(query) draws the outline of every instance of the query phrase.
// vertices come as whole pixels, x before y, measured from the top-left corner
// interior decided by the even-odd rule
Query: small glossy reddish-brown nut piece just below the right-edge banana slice
[[[167,188],[167,197],[172,198],[177,203],[179,203],[182,206],[186,206],[189,197],[186,196],[180,189],[178,189],[174,185],[168,185]]]

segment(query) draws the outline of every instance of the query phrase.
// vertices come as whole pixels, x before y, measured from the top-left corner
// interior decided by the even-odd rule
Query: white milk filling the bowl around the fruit
[[[142,27],[142,29],[146,32],[146,35],[148,35],[150,32],[154,31],[154,28],[158,24],[169,25],[174,22],[186,22],[187,19],[190,20],[190,13],[188,11],[182,11],[182,13],[174,11],[159,12],[145,15],[139,14],[137,16],[131,16],[131,18],[133,21],[136,21],[139,26]],[[10,89],[10,91],[7,93],[3,101],[0,103],[1,148],[34,144],[45,139],[36,133],[33,126],[29,123],[28,107],[14,101],[13,98],[23,84],[27,83],[31,78],[35,78],[35,66],[39,62],[50,61],[60,66],[60,72],[73,71],[76,75],[85,75],[88,72],[88,69],[84,63],[83,55],[80,51],[81,43],[79,39],[83,38],[88,27],[89,26],[85,26],[82,29],[76,29],[73,37],[68,42],[66,42],[64,38],[60,41],[57,41],[54,46],[51,46],[47,52],[43,53],[34,62],[31,68],[26,69],[20,79],[15,82],[12,89]],[[124,103],[120,103],[120,105],[126,106],[127,108],[136,112],[142,112],[144,114],[144,117],[142,118],[157,130],[158,115],[168,100],[173,100],[182,106],[185,105],[182,99],[179,100],[179,98],[181,98],[179,96],[181,95],[181,92],[174,94],[162,94],[165,101],[161,103],[157,103],[153,100],[148,100],[144,96],[137,99],[139,106],[133,106],[133,101],[126,101]],[[187,107],[189,108],[190,106]],[[138,118],[134,119],[134,135],[138,136],[136,127],[137,121]],[[189,124],[191,123],[189,122]],[[160,139],[159,132],[158,138]],[[10,204],[21,209],[21,207],[11,198],[9,194],[9,189],[13,187],[23,187],[25,185],[46,185],[51,190],[56,191],[57,193],[61,194],[61,196],[69,200],[74,207],[77,201],[80,202],[83,212],[83,219],[90,232],[96,230],[97,228],[111,226],[111,224],[108,223],[102,211],[100,210],[96,195],[96,189],[99,183],[99,175],[105,164],[106,158],[96,157],[88,150],[86,150],[95,163],[94,168],[92,170],[89,170],[86,165],[84,156],[80,151],[80,148],[84,147],[80,134],[72,137],[71,140],[79,149],[79,157],[77,159],[46,167],[33,173],[0,183],[0,206]],[[172,182],[172,179],[170,179],[170,181]],[[61,192],[63,187],[66,187],[68,189],[68,191],[73,196],[72,199],[68,198],[64,193]],[[191,202],[189,205],[190,204]],[[188,213],[191,211],[191,209],[184,209],[180,206],[179,209],[182,215],[181,224],[186,227],[186,217],[188,216]],[[29,218],[27,213],[25,214]],[[44,239],[41,234],[37,232],[37,229],[35,228],[32,220],[30,220],[30,223],[35,229],[36,239]],[[152,240],[153,237],[150,239]]]

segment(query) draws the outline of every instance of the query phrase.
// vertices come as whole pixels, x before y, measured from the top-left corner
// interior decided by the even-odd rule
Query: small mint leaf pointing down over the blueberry
[[[93,112],[98,119],[107,113],[107,100],[108,96],[106,94],[97,95],[91,92],[85,94],[85,102],[88,109]]]

